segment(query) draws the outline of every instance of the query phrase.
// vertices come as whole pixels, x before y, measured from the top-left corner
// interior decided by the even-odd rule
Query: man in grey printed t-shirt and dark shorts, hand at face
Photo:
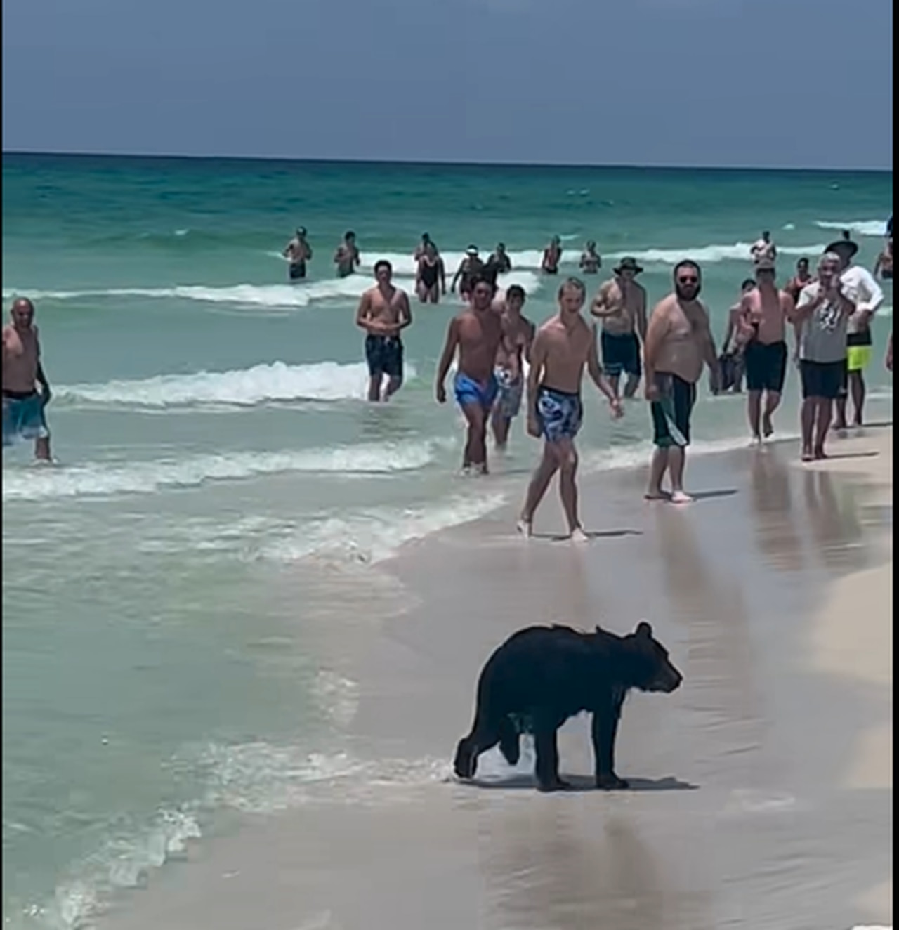
[[[826,458],[833,402],[845,392],[846,328],[855,303],[840,280],[840,256],[825,252],[818,277],[796,304],[800,326],[802,461]]]

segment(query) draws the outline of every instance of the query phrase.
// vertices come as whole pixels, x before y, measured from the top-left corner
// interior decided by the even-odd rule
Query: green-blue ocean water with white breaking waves
[[[454,299],[414,304],[403,391],[364,403],[353,313],[375,260],[411,289],[422,232],[448,266],[502,240],[539,321],[553,234],[567,262],[588,238],[605,268],[636,256],[651,300],[690,257],[720,339],[762,229],[785,272],[843,228],[871,266],[892,204],[892,175],[834,172],[5,155],[3,182],[4,300],[36,303],[59,458],[37,468],[16,449],[3,465],[3,911],[22,930],[86,923],[231,810],[370,777],[341,741],[354,684],[307,632],[350,609],[342,579],[358,596],[404,542],[522,493],[537,446],[521,423],[494,475],[456,475],[460,419],[432,391]],[[315,256],[288,286],[279,255],[299,224]],[[347,229],[364,267],[337,281]],[[871,419],[892,413],[886,302]],[[796,432],[796,380],[781,432]],[[587,468],[645,460],[644,405],[618,423],[592,392],[587,407]],[[744,443],[742,400],[704,396],[695,432]],[[296,597],[273,596],[285,578]]]

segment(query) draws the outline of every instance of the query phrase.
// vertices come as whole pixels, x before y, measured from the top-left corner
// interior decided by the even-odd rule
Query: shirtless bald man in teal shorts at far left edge
[[[41,365],[41,342],[34,326],[34,305],[17,298],[3,327],[3,445],[34,440],[34,458],[50,461],[50,432],[44,408],[50,385]],[[40,385],[40,392],[35,385]]]

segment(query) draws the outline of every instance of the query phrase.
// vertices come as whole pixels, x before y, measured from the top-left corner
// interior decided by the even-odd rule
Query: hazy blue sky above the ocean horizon
[[[892,3],[4,0],[3,148],[890,168]]]

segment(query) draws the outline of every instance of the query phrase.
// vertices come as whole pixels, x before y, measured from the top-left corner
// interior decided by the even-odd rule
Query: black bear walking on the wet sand
[[[593,633],[563,626],[520,630],[483,667],[474,724],[456,749],[456,775],[474,777],[478,756],[497,743],[509,764],[516,764],[519,737],[531,732],[537,787],[567,788],[559,777],[556,734],[569,717],[588,711],[597,788],[627,788],[628,782],[615,775],[615,735],[628,690],[669,694],[682,681],[645,620],[626,636],[599,627]]]

